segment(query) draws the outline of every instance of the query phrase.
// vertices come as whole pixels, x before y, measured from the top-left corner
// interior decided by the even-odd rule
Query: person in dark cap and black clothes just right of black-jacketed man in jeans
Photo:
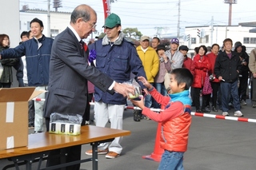
[[[238,56],[240,57],[242,69],[241,73],[239,73],[239,87],[238,87],[238,95],[241,105],[247,105],[246,104],[246,90],[248,87],[248,75],[249,75],[249,55],[246,53],[246,51],[242,47],[241,42],[236,42],[234,44],[234,51],[238,53]]]

